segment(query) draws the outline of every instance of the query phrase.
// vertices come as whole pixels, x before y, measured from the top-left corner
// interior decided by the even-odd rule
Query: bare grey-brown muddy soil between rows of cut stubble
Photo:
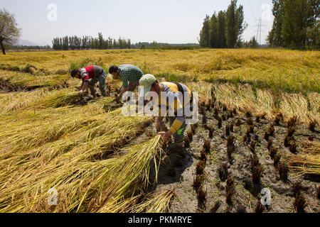
[[[219,116],[226,114],[222,109]],[[248,124],[247,116],[235,115],[223,121],[222,127],[218,128],[218,121],[213,116],[213,111],[206,111],[207,125],[213,126],[213,138],[209,138],[208,130],[203,127],[202,118],[193,135],[190,148],[184,150],[184,153],[175,152],[172,144],[166,149],[166,158],[159,171],[158,183],[150,189],[151,192],[161,192],[166,189],[174,189],[176,198],[171,201],[170,211],[174,213],[185,212],[205,212],[205,213],[253,213],[257,204],[262,198],[261,191],[264,188],[270,189],[271,205],[261,206],[263,212],[267,213],[293,213],[295,196],[292,188],[295,182],[302,182],[300,194],[306,200],[304,212],[319,213],[320,202],[316,199],[316,187],[319,186],[319,176],[297,176],[289,174],[287,181],[279,178],[279,171],[274,167],[274,161],[270,157],[265,140],[265,131],[270,127],[272,121],[261,119],[259,123],[252,118],[254,133],[251,134],[251,140],[257,140],[255,150],[250,150],[250,143],[243,143],[243,137],[246,135]],[[240,120],[240,126],[234,126],[231,135],[235,138],[235,150],[232,158],[227,157],[227,136],[225,135],[225,126],[230,123],[236,123]],[[191,128],[188,126],[187,132]],[[319,128],[318,128],[319,129]],[[278,148],[282,157],[290,153],[289,148],[284,147],[284,137],[287,133],[287,124],[274,124],[274,135],[270,137],[273,140],[273,147]],[[304,126],[296,126],[294,139],[299,143],[306,140],[309,135],[314,140],[320,140],[319,131],[311,133]],[[211,141],[210,154],[206,161],[204,170],[205,180],[203,189],[205,189],[206,199],[199,201],[197,199],[196,189],[193,188],[193,179],[196,177],[196,165],[201,157],[201,149],[204,140],[208,138]],[[301,150],[297,147],[298,153]],[[260,182],[252,182],[252,172],[250,162],[253,154],[257,157],[262,165],[262,176]],[[286,162],[284,158],[280,162]],[[233,177],[234,191],[230,201],[226,202],[226,178],[220,179],[219,168],[222,163],[228,166],[228,177]]]

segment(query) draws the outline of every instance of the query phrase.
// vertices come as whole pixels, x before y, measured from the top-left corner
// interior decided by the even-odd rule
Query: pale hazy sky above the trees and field
[[[48,9],[50,4],[55,8]],[[130,38],[159,43],[198,43],[206,14],[226,10],[229,0],[0,0],[16,16],[22,39],[52,45],[54,37],[92,35],[102,32],[112,38]],[[262,14],[262,43],[272,28],[272,0],[238,0],[245,11],[248,28],[245,40],[257,35]],[[267,4],[267,5],[264,5]],[[56,18],[56,21],[55,21]]]

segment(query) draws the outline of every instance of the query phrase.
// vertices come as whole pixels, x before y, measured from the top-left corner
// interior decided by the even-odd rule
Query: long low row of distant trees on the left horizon
[[[119,38],[103,38],[102,33],[98,33],[97,38],[92,36],[65,36],[63,38],[54,38],[53,50],[85,50],[85,49],[130,49],[131,40]]]

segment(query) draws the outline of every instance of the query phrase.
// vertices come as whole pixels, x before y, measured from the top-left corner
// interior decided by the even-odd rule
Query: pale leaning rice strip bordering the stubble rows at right
[[[249,84],[215,84],[217,101],[226,105],[228,109],[236,108],[243,114],[248,111],[254,115],[266,113],[266,118],[272,120],[274,110],[281,111],[284,120],[294,115],[299,116],[299,123],[309,124],[309,121],[319,122],[319,94],[309,93],[307,97],[302,94],[288,94],[280,92],[272,94],[269,90],[252,90]],[[308,106],[310,103],[310,108]]]

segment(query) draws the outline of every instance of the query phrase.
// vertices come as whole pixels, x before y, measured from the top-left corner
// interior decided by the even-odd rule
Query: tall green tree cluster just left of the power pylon
[[[247,28],[243,6],[231,0],[227,11],[206,16],[200,32],[199,43],[203,48],[240,48],[242,33]]]

